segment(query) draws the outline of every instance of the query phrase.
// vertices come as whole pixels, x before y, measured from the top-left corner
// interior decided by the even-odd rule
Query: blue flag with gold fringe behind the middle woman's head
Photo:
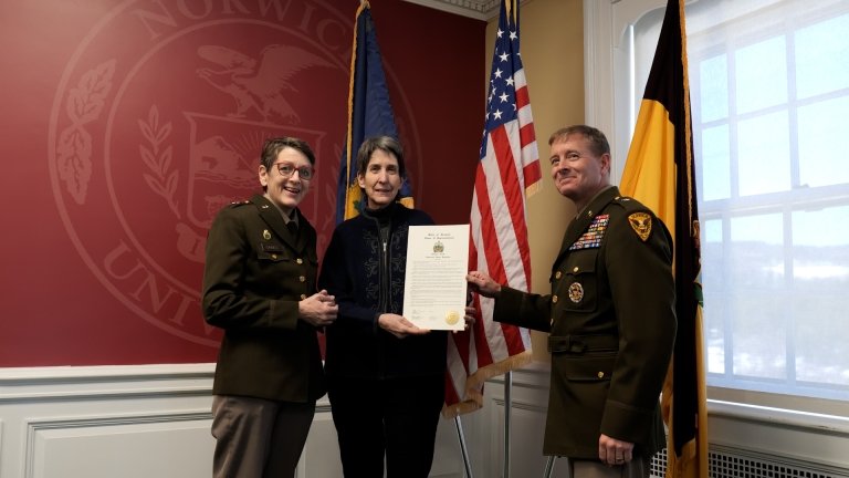
[[[380,60],[380,48],[377,45],[375,22],[368,2],[364,1],[357,9],[350,56],[348,134],[339,167],[336,224],[359,214],[363,191],[357,184],[357,150],[365,138],[380,135],[398,139],[398,127],[395,125],[395,114],[389,102],[389,89]],[[405,206],[412,207],[409,181],[403,183],[399,196]]]

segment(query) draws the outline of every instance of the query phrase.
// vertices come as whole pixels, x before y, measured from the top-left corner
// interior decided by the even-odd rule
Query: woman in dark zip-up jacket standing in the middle
[[[433,460],[444,402],[444,331],[401,316],[409,226],[432,225],[396,202],[403,150],[388,136],[357,154],[360,215],[340,224],[324,256],[318,285],[335,295],[325,371],[346,477],[424,478]]]

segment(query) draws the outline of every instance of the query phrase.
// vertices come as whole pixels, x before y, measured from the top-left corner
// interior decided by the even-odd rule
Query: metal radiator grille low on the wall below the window
[[[663,478],[665,470],[667,450],[663,449],[651,460],[651,476]],[[849,478],[849,469],[711,445],[708,475],[711,478]]]

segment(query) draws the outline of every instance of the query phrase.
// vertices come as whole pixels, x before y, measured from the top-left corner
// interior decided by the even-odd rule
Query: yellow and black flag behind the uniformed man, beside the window
[[[650,207],[674,237],[678,335],[662,407],[667,477],[708,477],[700,242],[686,73],[684,0],[669,0],[620,190]]]

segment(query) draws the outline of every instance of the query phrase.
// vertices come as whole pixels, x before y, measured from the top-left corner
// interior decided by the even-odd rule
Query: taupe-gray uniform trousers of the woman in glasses
[[[212,397],[214,478],[293,477],[304,449],[315,403]]]

